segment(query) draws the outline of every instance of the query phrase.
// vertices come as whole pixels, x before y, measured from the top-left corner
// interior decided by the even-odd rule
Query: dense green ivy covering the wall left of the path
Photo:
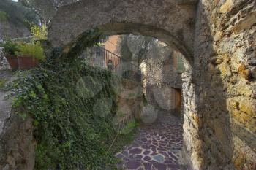
[[[115,169],[117,160],[108,149],[116,136],[112,125],[116,113],[112,81],[117,77],[76,57],[98,37],[98,33],[90,31],[69,52],[54,50],[39,68],[18,72],[17,80],[6,89],[14,96],[13,107],[18,114],[34,119],[35,169]],[[101,88],[93,91],[91,85]],[[105,115],[95,112],[99,100],[103,101],[102,108],[110,108]]]

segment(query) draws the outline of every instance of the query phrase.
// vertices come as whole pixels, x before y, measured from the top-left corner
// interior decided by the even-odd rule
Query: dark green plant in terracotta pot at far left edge
[[[15,53],[18,51],[18,44],[16,42],[12,42],[10,39],[7,39],[6,41],[2,42],[0,46],[4,47],[3,52],[11,68],[18,69],[18,58],[17,55],[15,55]]]

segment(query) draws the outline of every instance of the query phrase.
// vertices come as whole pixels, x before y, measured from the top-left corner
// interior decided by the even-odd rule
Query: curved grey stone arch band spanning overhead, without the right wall
[[[192,63],[195,6],[176,0],[81,0],[61,7],[50,23],[54,47],[72,45],[85,31],[153,36],[181,51]]]

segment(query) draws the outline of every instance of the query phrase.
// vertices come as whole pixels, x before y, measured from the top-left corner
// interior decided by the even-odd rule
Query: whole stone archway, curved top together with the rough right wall
[[[54,47],[71,46],[99,28],[150,35],[176,47],[192,65],[183,76],[182,108],[192,169],[253,166],[256,6],[252,0],[195,2],[81,0],[59,9],[48,38]]]

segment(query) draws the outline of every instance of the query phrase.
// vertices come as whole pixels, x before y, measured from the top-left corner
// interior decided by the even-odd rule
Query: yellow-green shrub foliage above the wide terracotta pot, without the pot
[[[44,50],[39,42],[20,43],[18,50],[16,54],[19,56],[31,56],[39,61],[45,59]]]

